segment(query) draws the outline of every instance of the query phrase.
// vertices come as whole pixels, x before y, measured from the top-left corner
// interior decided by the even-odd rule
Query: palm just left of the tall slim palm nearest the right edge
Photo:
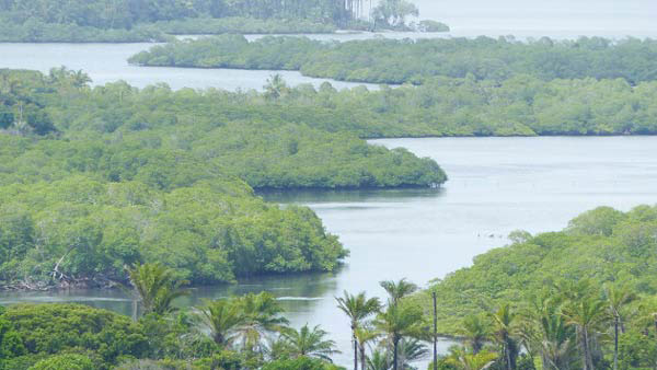
[[[581,298],[578,301],[568,302],[564,307],[563,314],[566,323],[576,328],[579,337],[583,369],[593,370],[590,346],[596,329],[608,320],[604,301],[597,298]]]

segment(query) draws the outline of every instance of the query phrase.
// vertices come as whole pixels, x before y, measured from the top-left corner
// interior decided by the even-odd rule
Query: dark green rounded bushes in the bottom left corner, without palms
[[[10,323],[11,331],[22,340],[25,351],[33,355],[59,355],[90,350],[107,369],[122,356],[139,357],[148,352],[147,338],[139,324],[126,316],[78,304],[19,304],[7,309],[0,320]],[[14,354],[16,356],[20,354]],[[84,355],[84,354],[80,354]],[[79,355],[45,359],[38,369],[60,369],[67,361],[88,369],[89,362],[78,361]],[[89,356],[87,356],[89,357]]]

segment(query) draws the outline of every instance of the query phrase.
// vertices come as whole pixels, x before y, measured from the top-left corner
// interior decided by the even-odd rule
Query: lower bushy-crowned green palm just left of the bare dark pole
[[[391,302],[392,303],[392,302]],[[374,320],[374,326],[388,336],[392,344],[392,368],[397,370],[399,346],[404,337],[422,335],[423,311],[417,304],[400,302],[389,304],[385,311],[380,312]]]

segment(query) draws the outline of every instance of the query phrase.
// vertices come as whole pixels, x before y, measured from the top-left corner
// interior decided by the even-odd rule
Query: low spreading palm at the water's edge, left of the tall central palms
[[[335,342],[325,339],[328,333],[321,329],[319,325],[312,329],[308,327],[308,324],[299,331],[287,328],[280,335],[288,343],[292,357],[316,357],[332,362],[331,355],[339,354],[335,349]]]

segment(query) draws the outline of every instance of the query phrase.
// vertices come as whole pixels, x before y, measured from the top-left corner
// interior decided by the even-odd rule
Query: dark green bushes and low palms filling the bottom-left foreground
[[[219,307],[230,312],[216,311]],[[13,305],[0,314],[0,369],[339,369],[312,351],[300,352],[296,343],[288,342],[286,336],[298,332],[285,325],[280,309],[266,293],[215,301],[199,309],[151,313],[132,322],[127,316],[77,304]],[[214,327],[206,319],[232,322]],[[219,334],[215,329],[234,337],[220,340],[214,336]],[[253,344],[257,348],[237,342],[254,333],[263,335]],[[267,333],[283,334],[277,347],[265,351]],[[323,336],[315,346],[327,344],[331,349],[333,344]]]

